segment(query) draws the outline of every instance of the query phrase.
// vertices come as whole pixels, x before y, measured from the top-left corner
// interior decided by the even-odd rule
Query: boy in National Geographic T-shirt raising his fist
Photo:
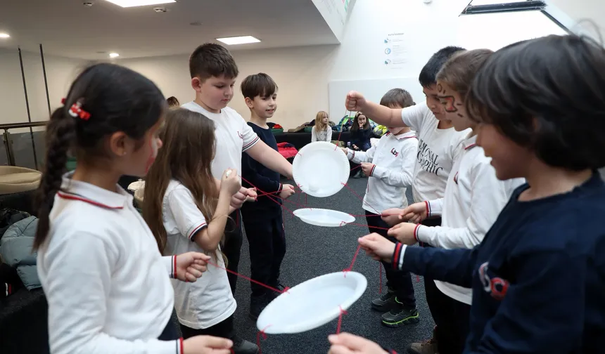
[[[445,111],[437,98],[437,73],[445,62],[455,53],[464,51],[459,47],[448,46],[433,54],[422,68],[419,81],[426,96],[426,104],[413,105],[402,110],[393,110],[365,100],[357,92],[347,96],[348,110],[362,110],[377,124],[384,126],[409,126],[418,136],[418,152],[412,183],[414,202],[442,198],[445,194],[447,176],[450,175],[454,158],[461,148],[460,143],[469,131],[455,131],[452,122],[445,117]],[[400,209],[383,211],[385,215],[400,214]],[[427,218],[423,225],[441,225],[441,218]],[[431,279],[424,278],[424,288],[428,308],[432,310],[433,294],[439,291]],[[433,343],[434,341],[431,341]]]

